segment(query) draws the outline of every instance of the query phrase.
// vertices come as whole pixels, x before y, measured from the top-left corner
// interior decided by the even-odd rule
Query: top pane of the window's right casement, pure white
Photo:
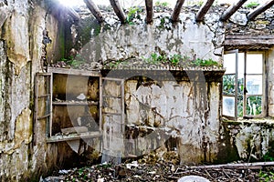
[[[247,55],[247,74],[262,74],[262,54]]]

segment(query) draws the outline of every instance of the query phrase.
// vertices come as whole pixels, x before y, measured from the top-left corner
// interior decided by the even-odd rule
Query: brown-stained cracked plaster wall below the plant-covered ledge
[[[127,125],[138,128],[133,135],[134,155],[148,153],[174,137],[181,163],[216,160],[220,109],[217,81],[166,80],[138,85],[138,80],[130,79],[125,91]]]

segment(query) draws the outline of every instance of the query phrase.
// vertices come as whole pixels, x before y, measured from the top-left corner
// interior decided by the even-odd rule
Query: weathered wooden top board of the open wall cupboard
[[[76,76],[101,76],[100,71],[87,71],[71,68],[48,67],[47,72],[55,74],[68,74]]]

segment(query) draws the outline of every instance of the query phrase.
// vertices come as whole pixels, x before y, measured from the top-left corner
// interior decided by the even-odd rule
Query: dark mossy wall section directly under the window
[[[230,161],[269,161],[274,155],[273,119],[224,121],[221,131],[222,155]]]

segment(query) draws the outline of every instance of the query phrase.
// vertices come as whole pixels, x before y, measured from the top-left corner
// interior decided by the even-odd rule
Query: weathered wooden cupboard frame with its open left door
[[[64,74],[64,75],[74,75],[74,76],[94,76],[98,77],[100,81],[99,89],[101,88],[101,75],[100,72],[96,71],[83,71],[83,70],[75,70],[75,69],[62,69],[62,68],[49,68],[47,73],[37,73],[36,74],[36,82],[35,82],[35,113],[34,113],[34,143],[37,143],[37,126],[38,122],[46,122],[46,139],[47,143],[52,142],[61,142],[61,141],[69,141],[76,140],[80,138],[90,138],[90,137],[100,137],[101,135],[101,108],[99,106],[99,123],[100,123],[100,131],[98,132],[86,132],[81,133],[79,135],[71,135],[71,136],[52,136],[52,121],[53,121],[53,75],[54,74]],[[45,84],[41,84],[39,80],[46,79]],[[44,86],[44,91],[40,91],[41,86]],[[39,88],[40,87],[40,88]],[[43,90],[43,89],[42,89]],[[41,95],[41,92],[46,92],[46,95]],[[38,109],[39,106],[39,98],[47,98],[47,102],[44,103],[45,110],[41,111]],[[101,99],[101,96],[99,96]],[[101,100],[99,100],[99,105]],[[63,105],[64,104],[64,105]],[[65,103],[62,103],[63,106],[66,106]],[[67,105],[68,106],[68,105]],[[48,112],[47,112],[48,111]],[[43,112],[47,112],[43,114]],[[46,120],[45,120],[46,119]]]

